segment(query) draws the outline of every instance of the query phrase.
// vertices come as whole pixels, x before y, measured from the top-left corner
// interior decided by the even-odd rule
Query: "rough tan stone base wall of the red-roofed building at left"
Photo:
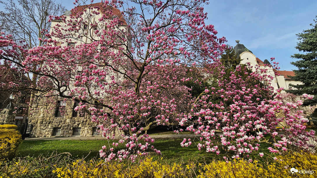
[[[56,103],[38,102],[33,104],[32,114],[29,114],[29,124],[33,125],[31,137],[78,137],[73,134],[74,127],[81,128],[81,137],[93,136],[93,128],[97,124],[91,121],[91,116],[87,113],[83,117],[72,117],[73,107],[74,102],[67,101],[65,113],[61,117],[55,117]],[[54,136],[54,130],[59,130],[59,128],[60,132]]]

